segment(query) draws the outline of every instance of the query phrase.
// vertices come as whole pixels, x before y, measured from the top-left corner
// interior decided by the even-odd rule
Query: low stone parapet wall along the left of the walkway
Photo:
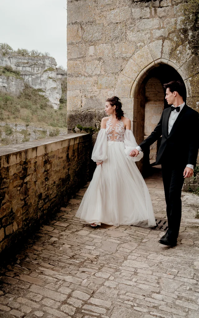
[[[89,134],[69,134],[0,149],[0,252],[58,210],[89,176]]]

